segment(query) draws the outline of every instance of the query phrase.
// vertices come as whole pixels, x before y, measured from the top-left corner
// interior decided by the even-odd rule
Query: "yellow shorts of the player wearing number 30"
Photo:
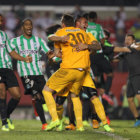
[[[71,85],[70,91],[78,95],[85,74],[85,71],[80,71],[78,69],[60,68],[49,78],[46,84],[50,89],[55,90],[57,93]]]

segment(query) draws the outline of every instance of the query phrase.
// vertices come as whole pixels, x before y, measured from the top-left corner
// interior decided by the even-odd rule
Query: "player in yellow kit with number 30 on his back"
[[[43,95],[52,117],[52,122],[48,125],[46,130],[51,130],[60,125],[60,120],[56,111],[56,103],[52,93],[60,92],[65,87],[71,85],[71,98],[74,106],[74,113],[77,122],[77,130],[83,130],[82,124],[82,105],[78,94],[81,89],[83,79],[86,71],[89,68],[89,51],[77,51],[76,46],[84,44],[89,47],[88,36],[85,31],[74,27],[74,19],[70,15],[64,15],[61,20],[62,29],[56,32],[57,36],[69,36],[66,43],[55,43],[55,55],[62,53],[62,63],[60,69],[56,71],[46,83],[43,89]],[[83,43],[83,44],[79,44]]]

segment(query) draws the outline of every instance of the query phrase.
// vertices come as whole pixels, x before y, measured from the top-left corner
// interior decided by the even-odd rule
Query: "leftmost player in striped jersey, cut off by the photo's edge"
[[[7,51],[8,37],[2,31],[4,27],[4,17],[0,14],[0,114],[2,120],[2,131],[9,131],[14,129],[15,126],[10,119],[11,113],[17,107],[21,94],[17,78],[12,70],[12,62]],[[10,55],[17,60],[24,62],[31,62],[30,57],[21,57],[15,51]],[[6,105],[6,90],[10,93],[12,98]]]

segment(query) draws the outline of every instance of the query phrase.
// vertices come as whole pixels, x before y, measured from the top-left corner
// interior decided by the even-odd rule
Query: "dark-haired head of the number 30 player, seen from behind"
[[[62,27],[72,27],[74,26],[74,18],[69,14],[64,14],[61,18]]]

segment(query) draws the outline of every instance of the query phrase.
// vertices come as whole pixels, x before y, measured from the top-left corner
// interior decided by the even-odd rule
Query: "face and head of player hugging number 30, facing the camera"
[[[75,26],[76,28],[86,30],[88,27],[88,21],[84,16],[78,15],[77,18],[75,19]]]

